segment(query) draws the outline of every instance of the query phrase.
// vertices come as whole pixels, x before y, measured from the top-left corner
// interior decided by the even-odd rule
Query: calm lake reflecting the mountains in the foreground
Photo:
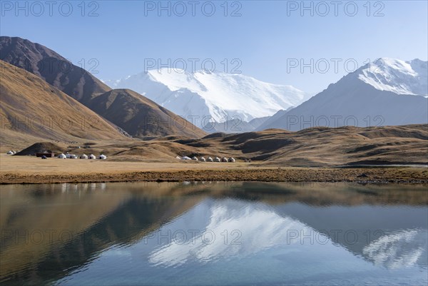
[[[2,185],[1,285],[427,285],[422,185]]]

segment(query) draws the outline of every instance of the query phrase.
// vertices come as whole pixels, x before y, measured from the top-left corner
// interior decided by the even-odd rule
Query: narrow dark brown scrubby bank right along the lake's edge
[[[1,172],[0,184],[260,181],[317,183],[427,184],[425,168],[248,168],[199,170],[143,170],[127,172]]]

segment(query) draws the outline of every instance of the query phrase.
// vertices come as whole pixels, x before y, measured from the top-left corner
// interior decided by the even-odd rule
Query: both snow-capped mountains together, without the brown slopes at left
[[[208,133],[243,133],[428,123],[427,81],[427,61],[379,58],[312,98],[241,74],[165,68],[104,83],[138,91]]]

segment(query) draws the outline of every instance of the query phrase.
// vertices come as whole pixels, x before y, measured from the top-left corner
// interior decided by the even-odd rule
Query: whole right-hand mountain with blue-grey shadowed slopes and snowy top
[[[428,123],[427,61],[379,58],[257,130]]]

